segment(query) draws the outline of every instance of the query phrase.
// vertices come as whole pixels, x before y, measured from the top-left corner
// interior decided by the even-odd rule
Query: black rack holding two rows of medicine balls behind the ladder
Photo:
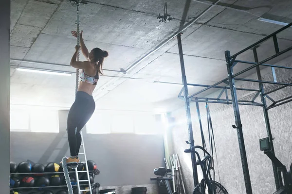
[[[89,165],[89,175],[90,180],[91,180],[91,188],[99,188],[100,184],[99,183],[94,183],[94,177],[95,175],[99,175],[99,170],[96,168],[96,163],[94,161],[87,161],[90,162]],[[83,163],[82,163],[83,164]],[[88,163],[89,164],[89,163]],[[35,168],[34,171],[34,167],[37,166]],[[83,166],[83,165],[82,165]],[[82,167],[82,170],[78,170],[77,171],[77,176],[79,179],[82,180],[83,176],[86,175],[86,179],[87,179],[87,171],[86,169],[84,169],[85,166]],[[24,169],[23,169],[24,168]],[[20,169],[20,171],[19,171]],[[93,169],[93,170],[92,170]],[[72,187],[77,188],[77,182],[76,182],[76,172],[75,170],[71,170],[70,168],[68,168],[69,171],[69,176],[72,182]],[[20,162],[18,165],[15,162],[10,162],[10,191],[15,192],[18,191],[18,193],[26,193],[26,192],[32,192],[31,190],[33,190],[33,192],[38,191],[42,192],[42,191],[46,191],[47,189],[65,189],[67,190],[67,185],[65,183],[65,177],[64,177],[64,172],[63,172],[63,166],[62,164],[57,164],[55,162],[49,162],[46,167],[43,164],[40,163],[34,163],[32,161],[26,161],[26,162]],[[72,173],[74,173],[72,175]],[[58,176],[60,175],[60,176]],[[57,183],[52,183],[51,182],[51,178],[54,178],[54,176],[58,176],[58,180]],[[23,179],[24,178],[31,178],[30,182],[28,183],[28,185],[21,185],[21,184],[26,184],[23,183]],[[41,183],[41,185],[39,185],[38,183],[36,183],[39,178],[45,178],[47,179],[45,182]],[[13,181],[13,183],[12,183]],[[33,181],[33,182],[31,182]],[[15,185],[16,184],[16,185]],[[56,184],[56,185],[51,185],[51,184]],[[80,187],[88,187],[89,184],[80,184]]]

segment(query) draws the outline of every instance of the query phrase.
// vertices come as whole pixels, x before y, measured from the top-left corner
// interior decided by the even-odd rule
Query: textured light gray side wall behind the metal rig
[[[279,62],[277,65],[292,66],[292,57]],[[243,64],[238,64],[243,65]],[[270,72],[270,69],[264,69],[263,72]],[[278,81],[292,82],[291,71],[276,69]],[[262,74],[263,80],[272,81],[272,74]],[[255,75],[250,76],[256,79]],[[239,86],[237,83],[237,87]],[[244,88],[258,88],[258,83],[247,82],[240,87]],[[265,84],[266,91],[270,91],[279,87],[279,85]],[[255,93],[253,93],[255,94]],[[237,91],[239,99],[252,99],[253,94],[249,92]],[[292,88],[287,87],[282,91],[275,92],[269,95],[278,100],[292,95]],[[217,96],[213,96],[217,97]],[[222,96],[224,97],[224,95]],[[230,94],[229,94],[230,99]],[[257,99],[259,102],[260,99]],[[269,102],[269,100],[267,100]],[[271,104],[271,102],[269,102]],[[239,146],[237,140],[237,130],[231,126],[235,124],[234,113],[232,105],[209,104],[212,116],[212,122],[215,133],[215,141],[217,146],[218,165],[215,165],[216,180],[220,180],[221,184],[228,190],[229,194],[244,194],[245,185],[242,173],[242,165],[240,160]],[[249,165],[250,178],[254,194],[268,194],[274,193],[275,183],[272,163],[269,158],[259,150],[259,139],[267,137],[263,110],[256,106],[239,106],[241,120],[243,125],[243,135],[245,147],[247,152],[247,159]],[[275,138],[274,149],[275,155],[278,159],[289,169],[292,162],[292,103],[287,103],[269,110],[270,123],[272,134]],[[208,134],[205,104],[200,104],[201,119],[203,130],[206,139]],[[200,126],[197,117],[197,110],[195,104],[191,104],[191,114],[194,130],[195,145],[201,145]],[[175,152],[181,158],[183,166],[184,180],[187,185],[188,193],[193,190],[193,178],[190,154],[183,153],[183,150],[188,148],[184,142],[188,140],[188,130],[186,125],[185,109],[182,107],[172,113],[176,118],[176,126],[173,129],[173,141]],[[207,142],[209,142],[207,140]],[[209,150],[209,145],[207,144]],[[215,157],[216,162],[216,157]],[[219,173],[218,173],[219,171]],[[199,171],[199,181],[202,174]]]

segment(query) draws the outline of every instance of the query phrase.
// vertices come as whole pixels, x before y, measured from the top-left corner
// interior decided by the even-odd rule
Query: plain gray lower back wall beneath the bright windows
[[[66,119],[67,112],[61,111],[59,133],[11,132],[11,160],[18,163],[29,159],[46,164],[59,163],[64,156],[69,156]],[[154,168],[164,165],[163,135],[86,134],[86,129],[82,131],[87,159],[95,161],[101,172],[95,182],[103,187],[147,185],[150,190],[154,189],[156,184],[150,177]]]

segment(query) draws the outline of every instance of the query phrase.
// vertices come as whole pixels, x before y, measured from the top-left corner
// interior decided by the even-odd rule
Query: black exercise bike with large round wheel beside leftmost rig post
[[[196,148],[201,149],[205,156],[200,157],[199,153],[195,150]],[[193,194],[228,194],[226,189],[219,182],[212,180],[210,169],[213,168],[213,158],[211,155],[201,146],[193,146],[192,148],[185,149],[185,153],[194,152],[198,160],[195,162],[195,165],[200,165],[203,172],[203,179],[201,182],[195,186]]]

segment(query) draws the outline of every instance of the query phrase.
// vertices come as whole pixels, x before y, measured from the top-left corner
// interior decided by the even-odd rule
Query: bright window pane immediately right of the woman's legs
[[[94,113],[86,124],[86,132],[91,134],[109,134],[110,122],[110,114]]]

